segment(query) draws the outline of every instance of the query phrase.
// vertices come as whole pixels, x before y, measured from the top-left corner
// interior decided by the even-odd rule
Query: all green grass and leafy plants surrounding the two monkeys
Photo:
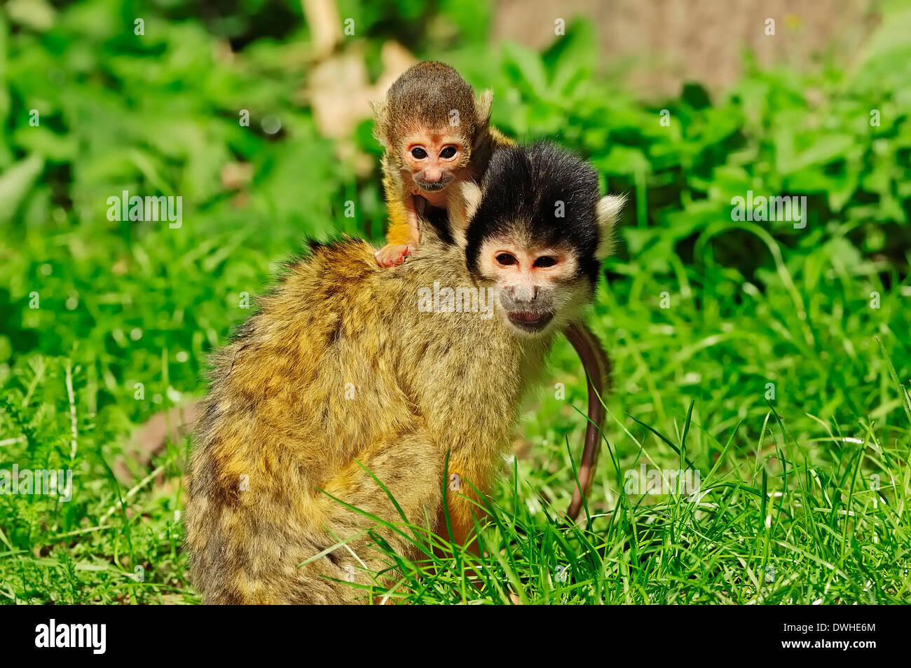
[[[207,355],[251,313],[241,294],[261,293],[304,235],[376,241],[384,222],[376,171],[355,176],[294,102],[305,27],[226,62],[211,26],[149,9],[136,40],[139,10],[118,7],[67,5],[46,31],[0,14],[0,471],[74,471],[67,502],[0,494],[10,603],[199,601],[181,551],[189,438],[130,481],[112,469],[150,416],[205,392]],[[399,528],[428,560],[390,556],[390,596],[909,600],[911,12],[890,12],[861,66],[748,63],[711,104],[699,87],[657,107],[617,90],[585,24],[543,54],[467,34],[425,45],[496,89],[499,127],[585,152],[630,205],[589,314],[614,387],[588,521],[558,519],[585,427],[585,378],[560,341],[492,499],[485,559]],[[280,135],[259,130],[266,114]],[[369,122],[352,142],[375,162]],[[222,182],[232,161],[249,182]],[[182,195],[183,226],[107,221],[121,190]],[[806,228],[732,221],[746,190],[805,194]],[[698,470],[699,495],[627,493],[643,464]]]

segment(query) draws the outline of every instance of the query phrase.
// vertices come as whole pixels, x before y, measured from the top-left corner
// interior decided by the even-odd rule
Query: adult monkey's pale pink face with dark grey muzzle
[[[478,269],[496,282],[507,322],[523,334],[544,333],[550,324],[562,326],[582,305],[578,262],[567,249],[488,240],[481,246]]]

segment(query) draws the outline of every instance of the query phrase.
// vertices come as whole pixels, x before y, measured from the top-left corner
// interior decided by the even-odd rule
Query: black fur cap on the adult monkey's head
[[[496,149],[466,231],[466,261],[477,272],[481,244],[507,235],[568,245],[580,274],[597,282],[600,262],[598,174],[589,163],[547,141]]]

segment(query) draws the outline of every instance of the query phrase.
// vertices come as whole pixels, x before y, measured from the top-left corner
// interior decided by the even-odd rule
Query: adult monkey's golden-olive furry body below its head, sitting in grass
[[[363,533],[375,523],[328,496],[401,521],[364,468],[409,521],[431,528],[443,526],[447,450],[450,474],[492,487],[549,339],[517,336],[496,313],[420,312],[420,288],[475,285],[465,252],[430,236],[394,270],[378,268],[365,242],[314,244],[215,355],[186,509],[205,602],[366,601],[337,581],[366,585],[363,566],[387,566]],[[464,540],[472,506],[448,498]]]

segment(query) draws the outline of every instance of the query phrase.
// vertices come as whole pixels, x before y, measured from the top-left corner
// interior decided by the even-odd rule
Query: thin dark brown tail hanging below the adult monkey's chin
[[[598,337],[592,334],[586,324],[571,324],[566,330],[569,343],[576,349],[582,367],[586,371],[589,387],[589,423],[585,430],[585,447],[578,466],[578,480],[573,490],[572,501],[567,515],[569,519],[578,518],[582,509],[582,498],[589,493],[591,478],[595,473],[598,450],[601,445],[600,430],[604,426],[604,406],[601,397],[610,383],[610,359]]]

